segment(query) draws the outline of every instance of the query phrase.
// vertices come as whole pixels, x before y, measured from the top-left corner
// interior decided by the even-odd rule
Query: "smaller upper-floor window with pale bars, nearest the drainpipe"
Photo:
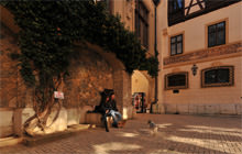
[[[183,54],[183,34],[170,37],[170,55]]]

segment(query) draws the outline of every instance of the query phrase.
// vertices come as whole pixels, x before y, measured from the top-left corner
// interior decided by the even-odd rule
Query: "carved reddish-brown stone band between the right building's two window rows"
[[[197,59],[205,59],[221,55],[228,55],[228,54],[234,54],[234,53],[241,53],[242,52],[242,42],[229,44],[229,45],[222,45],[218,47],[212,48],[206,48],[188,54],[177,55],[177,56],[170,56],[164,58],[164,65],[170,65],[176,63],[183,63],[183,62],[190,62],[190,61],[197,61]]]

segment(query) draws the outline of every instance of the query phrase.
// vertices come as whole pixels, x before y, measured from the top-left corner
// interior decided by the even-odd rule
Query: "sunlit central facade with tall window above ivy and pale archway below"
[[[102,0],[110,13],[119,14],[125,28],[133,31],[147,50],[147,56],[154,55],[154,3],[152,0]],[[146,72],[135,70],[132,75],[132,95],[145,92],[146,103],[154,101],[154,78]]]

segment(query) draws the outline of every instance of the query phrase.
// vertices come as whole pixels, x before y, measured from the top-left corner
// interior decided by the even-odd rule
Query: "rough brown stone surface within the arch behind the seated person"
[[[77,51],[69,68],[64,86],[64,106],[67,108],[97,106],[100,91],[113,89],[112,68],[95,52]]]

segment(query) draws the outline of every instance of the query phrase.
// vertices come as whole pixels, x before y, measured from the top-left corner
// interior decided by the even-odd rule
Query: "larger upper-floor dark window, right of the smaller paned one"
[[[208,47],[226,44],[226,22],[208,26]]]

